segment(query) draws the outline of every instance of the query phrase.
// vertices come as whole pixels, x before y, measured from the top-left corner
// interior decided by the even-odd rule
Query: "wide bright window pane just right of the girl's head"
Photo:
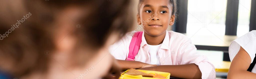
[[[225,35],[227,0],[188,0],[187,34]]]

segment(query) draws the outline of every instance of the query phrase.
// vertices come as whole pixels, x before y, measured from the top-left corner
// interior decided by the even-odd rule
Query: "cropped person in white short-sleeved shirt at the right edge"
[[[228,79],[256,78],[256,30],[231,42],[229,57],[231,60]]]

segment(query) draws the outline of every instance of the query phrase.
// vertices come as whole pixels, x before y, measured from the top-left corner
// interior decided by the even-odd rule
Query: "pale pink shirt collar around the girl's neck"
[[[168,31],[166,30],[166,34],[165,34],[165,37],[164,37],[164,41],[160,47],[160,49],[167,49],[169,50],[169,34],[168,34]],[[147,45],[147,41],[145,39],[145,36],[144,36],[144,31],[143,31],[143,34],[142,34],[142,38],[141,38],[141,47]]]

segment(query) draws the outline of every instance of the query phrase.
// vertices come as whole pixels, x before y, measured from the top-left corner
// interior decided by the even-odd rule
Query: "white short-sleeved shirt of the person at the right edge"
[[[256,53],[256,30],[252,30],[231,42],[229,46],[229,57],[231,61],[240,50],[240,46],[250,55],[252,63]],[[253,67],[252,72],[256,73],[255,66]]]

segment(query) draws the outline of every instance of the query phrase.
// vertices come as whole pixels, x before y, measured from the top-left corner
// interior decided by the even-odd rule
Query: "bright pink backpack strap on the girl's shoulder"
[[[143,31],[137,31],[132,37],[132,41],[129,46],[129,54],[126,60],[134,61],[135,56],[138,54],[138,51],[141,46],[141,38]]]

